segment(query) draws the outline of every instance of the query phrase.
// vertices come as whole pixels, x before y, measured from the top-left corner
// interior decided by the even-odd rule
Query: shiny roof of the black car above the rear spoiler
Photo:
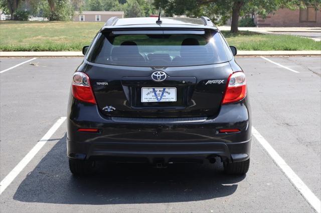
[[[185,27],[185,28],[214,28],[217,27],[205,16],[200,18],[190,17],[161,17],[162,23],[157,24],[158,17],[133,17],[118,18],[117,16],[109,18],[104,28],[145,28],[145,27]]]

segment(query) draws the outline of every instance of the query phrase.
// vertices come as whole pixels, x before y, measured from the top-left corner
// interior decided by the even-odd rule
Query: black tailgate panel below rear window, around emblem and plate
[[[180,66],[155,69],[88,63],[85,73],[90,76],[96,102],[105,115],[124,117],[216,115],[221,106],[227,78],[232,73],[230,63],[201,65],[197,66],[197,71],[195,68],[195,66]],[[166,72],[167,79],[162,82],[153,81],[151,74],[156,70]],[[223,80],[223,82],[206,84],[209,80]],[[108,85],[101,85],[99,82],[106,82]],[[177,95],[182,99],[174,103],[141,103],[141,87],[176,87]],[[102,110],[109,105],[116,109],[110,112]]]

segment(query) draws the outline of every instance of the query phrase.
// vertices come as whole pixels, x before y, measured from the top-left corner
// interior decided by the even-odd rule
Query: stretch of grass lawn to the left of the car
[[[103,22],[0,21],[1,51],[79,51]]]

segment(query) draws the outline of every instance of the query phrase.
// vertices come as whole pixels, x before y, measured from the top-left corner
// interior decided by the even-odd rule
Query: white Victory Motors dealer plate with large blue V
[[[155,95],[156,92],[156,95]],[[176,87],[141,87],[141,102],[176,102]],[[163,94],[163,95],[162,95]]]

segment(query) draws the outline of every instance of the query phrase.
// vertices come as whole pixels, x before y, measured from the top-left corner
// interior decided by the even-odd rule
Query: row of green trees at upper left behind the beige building
[[[25,3],[23,3],[25,2]],[[155,13],[153,0],[0,0],[0,8],[18,20],[21,12],[41,15],[49,20],[70,20],[73,12],[83,10],[124,11],[125,17],[149,16]]]

